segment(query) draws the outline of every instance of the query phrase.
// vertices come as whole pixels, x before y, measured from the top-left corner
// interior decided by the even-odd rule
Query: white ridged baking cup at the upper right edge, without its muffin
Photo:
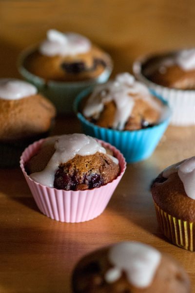
[[[133,71],[136,78],[146,84],[154,92],[154,94],[168,101],[172,109],[172,125],[195,125],[195,90],[169,88],[149,81],[142,74],[142,64],[146,60],[147,57],[143,57],[138,59],[133,64]]]

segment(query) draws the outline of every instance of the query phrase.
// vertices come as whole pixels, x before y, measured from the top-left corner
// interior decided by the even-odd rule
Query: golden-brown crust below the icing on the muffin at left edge
[[[47,132],[55,107],[40,94],[20,100],[0,99],[0,141],[34,137]]]

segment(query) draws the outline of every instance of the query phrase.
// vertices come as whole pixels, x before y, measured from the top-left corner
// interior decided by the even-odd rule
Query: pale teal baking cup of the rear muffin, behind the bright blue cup
[[[58,114],[73,113],[73,102],[78,93],[86,88],[93,88],[96,84],[105,83],[112,72],[113,64],[110,58],[110,65],[97,78],[81,82],[56,82],[45,81],[43,78],[29,72],[25,66],[25,58],[35,50],[35,47],[28,48],[20,53],[18,59],[18,70],[21,76],[31,84],[34,84],[39,92],[47,97],[57,109]]]

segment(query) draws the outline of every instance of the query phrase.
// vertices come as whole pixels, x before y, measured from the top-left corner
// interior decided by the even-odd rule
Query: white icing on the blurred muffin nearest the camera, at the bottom
[[[108,259],[114,268],[105,274],[108,283],[116,282],[125,272],[128,281],[137,288],[148,287],[161,260],[161,253],[143,243],[121,242],[111,247]]]

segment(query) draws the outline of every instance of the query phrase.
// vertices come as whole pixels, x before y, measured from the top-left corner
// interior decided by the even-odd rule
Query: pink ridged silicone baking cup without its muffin
[[[98,217],[106,208],[124,174],[126,162],[123,155],[116,147],[98,140],[102,146],[110,148],[118,159],[120,174],[117,178],[99,188],[78,191],[59,190],[33,181],[24,168],[25,163],[37,153],[43,141],[44,139],[28,146],[20,157],[20,167],[40,211],[51,219],[67,223],[84,222]]]

